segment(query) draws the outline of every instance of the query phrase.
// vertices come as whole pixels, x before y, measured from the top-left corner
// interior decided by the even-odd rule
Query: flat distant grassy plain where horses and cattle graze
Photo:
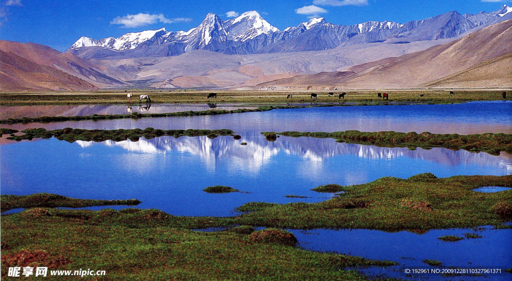
[[[450,95],[454,91],[454,95]],[[325,90],[325,91],[226,91],[226,90],[127,90],[134,97],[126,99],[124,90],[102,90],[97,92],[4,92],[0,93],[0,105],[35,104],[138,104],[139,95],[149,95],[154,103],[339,103],[339,102],[386,102],[377,99],[378,92],[387,92],[390,102],[455,103],[465,101],[501,100],[501,93],[507,91],[508,100],[512,99],[510,89],[403,89],[403,90]],[[217,93],[217,99],[207,99],[210,92]],[[328,92],[334,96],[329,97]],[[339,93],[347,92],[345,99],[339,99]],[[312,100],[310,93],[317,93]],[[293,98],[287,99],[288,95]],[[422,95],[422,96],[420,96]]]

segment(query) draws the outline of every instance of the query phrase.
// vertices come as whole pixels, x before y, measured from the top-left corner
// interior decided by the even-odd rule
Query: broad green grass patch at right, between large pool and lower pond
[[[318,203],[247,203],[237,224],[278,228],[366,228],[426,230],[500,227],[512,217],[497,213],[498,202],[512,203],[512,191],[476,193],[479,186],[512,186],[512,175],[454,176],[409,179],[384,177],[373,182],[343,186],[343,196]]]

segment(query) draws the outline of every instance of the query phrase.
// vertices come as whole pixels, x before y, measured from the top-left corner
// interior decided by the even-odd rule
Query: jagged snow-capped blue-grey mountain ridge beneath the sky
[[[209,13],[201,24],[189,31],[165,29],[126,33],[119,38],[93,39],[82,36],[68,50],[76,55],[84,49],[100,47],[98,58],[132,52],[133,57],[176,56],[194,50],[224,54],[301,52],[333,49],[339,45],[370,42],[409,42],[453,38],[512,12],[504,5],[494,12],[461,15],[455,11],[423,20],[400,24],[394,21],[368,21],[351,26],[334,25],[324,18],[313,18],[283,31],[271,26],[256,11],[222,20]],[[89,52],[90,53],[90,52]],[[89,54],[90,58],[96,58]]]

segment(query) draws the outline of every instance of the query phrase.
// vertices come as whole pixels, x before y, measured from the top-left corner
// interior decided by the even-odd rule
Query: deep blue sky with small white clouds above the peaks
[[[189,30],[207,13],[222,19],[256,10],[283,30],[311,16],[338,25],[369,20],[404,22],[449,11],[495,11],[511,0],[258,0],[258,1],[109,1],[109,0],[0,0],[0,39],[35,42],[66,51],[81,36],[100,39],[127,32],[159,29]]]

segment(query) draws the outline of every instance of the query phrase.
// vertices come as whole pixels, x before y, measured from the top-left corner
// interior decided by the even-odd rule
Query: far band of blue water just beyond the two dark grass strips
[[[247,131],[431,132],[512,133],[512,101],[438,105],[334,106],[279,109],[265,112],[187,116],[175,118],[118,119],[61,123],[5,125],[25,128],[130,129],[231,129]]]

